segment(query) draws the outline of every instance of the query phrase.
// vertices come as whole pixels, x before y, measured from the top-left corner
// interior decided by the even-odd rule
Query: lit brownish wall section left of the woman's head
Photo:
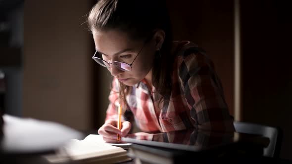
[[[23,116],[93,128],[91,0],[24,2]]]

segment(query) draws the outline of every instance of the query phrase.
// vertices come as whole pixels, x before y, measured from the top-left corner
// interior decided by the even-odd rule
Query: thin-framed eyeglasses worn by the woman
[[[135,61],[135,59],[137,58],[137,56],[140,54],[140,52],[142,51],[142,49],[144,48],[145,44],[146,44],[147,40],[144,42],[142,48],[140,49],[140,51],[138,52],[138,54],[136,55],[136,57],[134,58],[133,62],[131,64],[125,63],[125,62],[118,62],[118,61],[113,61],[113,62],[107,62],[101,58],[95,57],[96,54],[98,53],[98,51],[96,51],[96,53],[94,54],[94,56],[92,57],[99,65],[106,67],[106,68],[110,68],[110,64],[112,64],[113,66],[115,66],[116,68],[122,70],[122,71],[131,71],[132,70],[132,65]]]

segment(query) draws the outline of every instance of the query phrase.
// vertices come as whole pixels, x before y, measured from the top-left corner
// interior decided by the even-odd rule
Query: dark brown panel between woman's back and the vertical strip
[[[175,40],[193,41],[213,60],[234,115],[233,0],[167,0]]]

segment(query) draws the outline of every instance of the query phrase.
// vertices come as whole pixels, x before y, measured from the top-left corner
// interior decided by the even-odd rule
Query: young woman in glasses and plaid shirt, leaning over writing
[[[234,131],[212,62],[194,43],[172,41],[162,0],[99,0],[87,22],[96,46],[93,59],[113,76],[106,121],[98,129],[105,141],[126,136],[134,121],[151,133]]]

